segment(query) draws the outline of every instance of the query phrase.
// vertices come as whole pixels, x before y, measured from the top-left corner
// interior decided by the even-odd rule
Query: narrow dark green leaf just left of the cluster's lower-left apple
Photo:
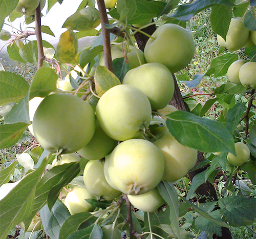
[[[66,164],[64,164],[66,166]],[[60,165],[62,166],[62,165]],[[61,189],[66,186],[69,182],[71,182],[80,172],[80,164],[79,162],[77,163],[69,163],[68,164],[68,168],[65,170],[65,173],[63,174],[63,177],[61,178],[61,180],[58,182],[58,184],[56,184],[55,186],[53,186],[51,188],[51,190],[49,191],[48,194],[48,198],[47,198],[47,203],[48,203],[48,207],[51,210],[54,203],[56,202],[58,195],[61,191]],[[63,167],[61,167],[63,168]]]

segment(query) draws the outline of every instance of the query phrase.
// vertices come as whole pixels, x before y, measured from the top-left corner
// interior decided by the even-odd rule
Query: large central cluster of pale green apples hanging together
[[[182,42],[177,50],[175,45]],[[168,105],[174,94],[172,73],[193,57],[193,38],[185,29],[166,24],[148,40],[144,54],[127,48],[132,69],[121,84],[100,97],[95,111],[88,102],[64,92],[44,98],[34,113],[35,138],[61,155],[53,166],[67,157],[79,161],[78,154],[89,161],[84,186],[66,196],[71,214],[94,210],[84,199],[112,201],[122,193],[136,208],[155,211],[164,203],[157,190],[160,181],[174,182],[196,163],[197,150],[181,145],[170,135],[164,117],[152,114],[177,110]],[[137,56],[133,51],[139,52],[140,60],[130,58]],[[113,58],[120,57],[119,52],[123,57],[122,49],[114,46]]]

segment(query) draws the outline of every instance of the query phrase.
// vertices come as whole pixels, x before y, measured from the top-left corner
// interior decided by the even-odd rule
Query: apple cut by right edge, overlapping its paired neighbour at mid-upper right
[[[243,64],[239,71],[239,79],[243,86],[256,89],[256,62]]]

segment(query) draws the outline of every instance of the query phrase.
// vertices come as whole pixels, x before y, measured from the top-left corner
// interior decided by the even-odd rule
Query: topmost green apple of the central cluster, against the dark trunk
[[[195,53],[195,43],[191,35],[175,24],[164,24],[148,39],[144,49],[147,63],[159,62],[175,73],[190,62]]]

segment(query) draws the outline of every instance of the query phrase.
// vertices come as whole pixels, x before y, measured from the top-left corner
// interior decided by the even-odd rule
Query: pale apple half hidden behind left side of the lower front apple
[[[87,190],[97,198],[111,201],[121,192],[111,187],[104,176],[104,164],[98,160],[90,160],[83,171],[83,181]]]

